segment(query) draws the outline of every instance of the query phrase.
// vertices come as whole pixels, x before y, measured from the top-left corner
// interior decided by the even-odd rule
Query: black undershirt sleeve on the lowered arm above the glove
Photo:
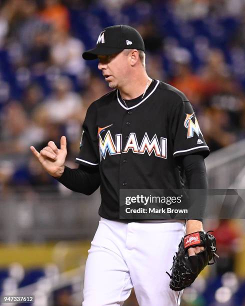
[[[204,158],[200,154],[185,155],[181,158],[181,163],[184,169],[187,186],[189,189],[207,189],[207,176]],[[192,192],[193,193],[193,192]],[[202,221],[202,213],[204,211],[207,195],[205,192],[201,195],[201,198],[197,198],[196,194],[190,193],[189,200],[191,202],[197,202],[196,205],[201,205],[200,220]]]

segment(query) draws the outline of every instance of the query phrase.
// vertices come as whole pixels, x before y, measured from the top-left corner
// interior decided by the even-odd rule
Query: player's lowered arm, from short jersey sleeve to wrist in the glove
[[[201,133],[193,107],[185,98],[182,97],[182,101],[178,102],[170,112],[173,156],[184,169],[188,189],[207,189],[204,158],[209,154],[209,148]],[[192,190],[189,194],[191,204],[198,205],[200,219],[187,220],[186,234],[203,231],[202,213],[206,204],[206,195],[205,192],[201,193],[203,193],[201,198],[198,198],[198,191]],[[188,248],[188,254],[194,255],[202,248],[199,246]]]

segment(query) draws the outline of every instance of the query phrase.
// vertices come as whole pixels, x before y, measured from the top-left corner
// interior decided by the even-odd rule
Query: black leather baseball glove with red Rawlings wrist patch
[[[212,231],[212,230],[209,230]],[[171,280],[169,286],[174,291],[180,291],[188,287],[207,265],[215,262],[218,255],[216,251],[215,237],[205,231],[196,231],[185,235],[178,244],[178,251],[173,256]],[[197,245],[203,245],[204,249],[193,256],[188,256],[187,249]],[[209,262],[213,259],[213,262]]]

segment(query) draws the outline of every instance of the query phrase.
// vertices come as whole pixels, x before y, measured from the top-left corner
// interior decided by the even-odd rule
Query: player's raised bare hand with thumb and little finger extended
[[[32,153],[38,159],[43,168],[52,176],[59,177],[64,171],[64,161],[67,155],[66,138],[60,138],[60,149],[53,141],[38,152],[33,145],[30,146]]]

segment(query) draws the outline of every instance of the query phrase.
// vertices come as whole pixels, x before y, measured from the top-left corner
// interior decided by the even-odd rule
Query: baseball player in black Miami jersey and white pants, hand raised
[[[112,89],[87,109],[77,169],[64,165],[66,139],[31,150],[47,172],[73,191],[100,186],[101,216],[88,250],[83,306],[122,305],[134,287],[140,306],[179,305],[181,291],[165,273],[184,234],[202,231],[201,219],[120,220],[120,189],[207,188],[209,153],[195,113],[176,88],[145,71],[144,42],[127,25],[105,28],[86,60]],[[189,239],[191,240],[191,239]],[[188,248],[195,256],[203,250]]]

